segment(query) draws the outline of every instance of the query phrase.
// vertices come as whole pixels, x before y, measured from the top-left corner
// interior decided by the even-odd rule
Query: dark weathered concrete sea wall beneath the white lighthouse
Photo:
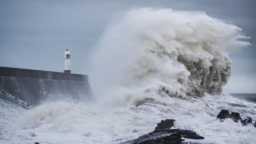
[[[88,75],[0,67],[0,89],[38,105],[50,98],[87,100],[92,94]]]

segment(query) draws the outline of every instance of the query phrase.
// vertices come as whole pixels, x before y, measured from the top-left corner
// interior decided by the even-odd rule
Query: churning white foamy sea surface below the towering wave
[[[227,109],[255,120],[255,103],[227,94],[187,100],[168,97],[166,101],[145,99],[137,106],[124,107],[56,101],[23,111],[1,105],[1,113],[9,120],[1,124],[0,143],[120,143],[153,131],[163,119],[175,119],[176,128],[195,131],[205,137],[204,142],[256,142],[253,124],[242,126],[230,119],[216,119],[221,109]]]

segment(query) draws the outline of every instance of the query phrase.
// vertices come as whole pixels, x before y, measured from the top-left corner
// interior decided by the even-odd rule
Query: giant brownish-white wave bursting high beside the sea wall
[[[250,45],[241,41],[248,38],[231,22],[204,12],[134,8],[113,17],[101,37],[95,74],[101,83],[122,87],[126,100],[219,94],[231,75],[227,53]]]

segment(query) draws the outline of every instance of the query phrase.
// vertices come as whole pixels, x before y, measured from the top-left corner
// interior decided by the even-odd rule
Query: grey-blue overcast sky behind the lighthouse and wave
[[[111,16],[134,6],[205,11],[234,22],[251,46],[229,54],[232,75],[224,92],[256,93],[255,0],[0,0],[0,66],[62,72],[69,49],[72,73],[90,75],[89,53]]]

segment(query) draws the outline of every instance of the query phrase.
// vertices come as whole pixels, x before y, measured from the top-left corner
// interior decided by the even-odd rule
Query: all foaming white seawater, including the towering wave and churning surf
[[[249,45],[241,32],[202,12],[141,8],[117,15],[92,54],[95,100],[7,110],[0,143],[119,143],[168,118],[212,142],[253,144],[253,125],[216,119],[221,109],[256,119],[256,104],[221,93],[231,74],[227,52]]]

